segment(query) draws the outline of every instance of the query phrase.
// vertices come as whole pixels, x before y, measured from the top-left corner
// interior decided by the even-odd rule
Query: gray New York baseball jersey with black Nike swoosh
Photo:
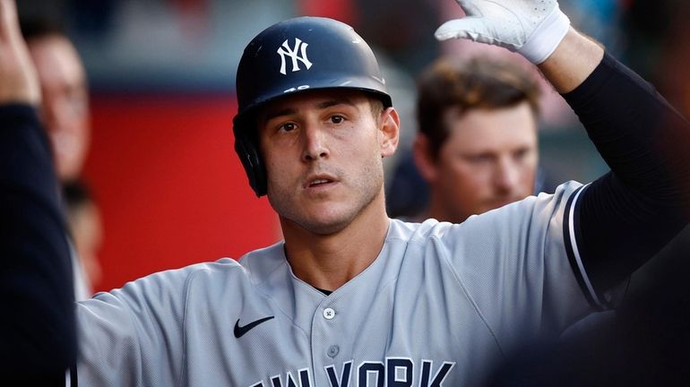
[[[80,383],[479,383],[522,340],[591,311],[566,254],[581,187],[458,225],[391,219],[376,260],[328,296],[293,274],[282,243],[101,293],[78,308]]]

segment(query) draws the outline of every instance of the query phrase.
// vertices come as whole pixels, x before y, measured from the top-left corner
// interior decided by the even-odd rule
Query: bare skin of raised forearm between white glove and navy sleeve
[[[539,64],[556,91],[566,93],[580,86],[601,62],[604,49],[572,27],[546,61]]]

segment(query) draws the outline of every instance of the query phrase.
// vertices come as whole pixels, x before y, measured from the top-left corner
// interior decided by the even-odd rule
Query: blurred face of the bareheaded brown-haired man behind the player
[[[461,222],[529,196],[537,170],[537,124],[527,102],[448,112],[451,130],[431,184],[447,219]]]

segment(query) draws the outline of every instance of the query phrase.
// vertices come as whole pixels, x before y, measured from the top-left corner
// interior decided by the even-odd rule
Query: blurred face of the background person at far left
[[[79,176],[89,147],[89,103],[82,62],[60,36],[34,39],[30,55],[39,73],[42,119],[53,144],[57,174]]]

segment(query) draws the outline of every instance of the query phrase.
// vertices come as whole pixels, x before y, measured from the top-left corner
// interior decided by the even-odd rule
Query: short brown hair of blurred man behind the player
[[[433,159],[448,137],[444,113],[458,108],[461,114],[474,108],[513,107],[527,101],[539,113],[539,84],[519,64],[483,56],[468,61],[441,58],[418,78],[417,120],[427,135]]]

